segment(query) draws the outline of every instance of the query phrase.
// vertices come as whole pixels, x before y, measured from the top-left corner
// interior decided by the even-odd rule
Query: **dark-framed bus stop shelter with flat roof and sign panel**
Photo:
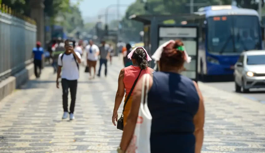
[[[180,39],[183,41],[187,48],[188,54],[192,57],[190,64],[185,65],[187,69],[183,72],[184,75],[198,80],[197,74],[197,60],[198,60],[198,37],[199,28],[197,25],[181,25],[182,21],[195,19],[199,15],[197,14],[177,14],[177,15],[132,15],[129,17],[131,20],[142,22],[144,24],[144,48],[149,55],[154,54],[158,46],[168,40]],[[163,21],[174,20],[179,24],[163,24]],[[155,66],[152,61],[152,68]]]

